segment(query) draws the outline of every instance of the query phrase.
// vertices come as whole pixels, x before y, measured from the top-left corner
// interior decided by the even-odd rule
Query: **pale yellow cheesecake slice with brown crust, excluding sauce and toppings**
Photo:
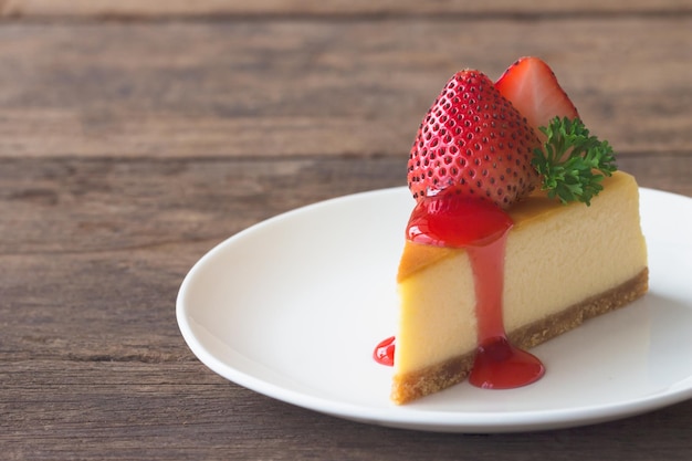
[[[507,210],[502,315],[506,337],[527,349],[648,289],[635,178],[616,171],[584,203],[536,191]],[[479,347],[469,251],[406,242],[391,399],[405,404],[464,380]]]

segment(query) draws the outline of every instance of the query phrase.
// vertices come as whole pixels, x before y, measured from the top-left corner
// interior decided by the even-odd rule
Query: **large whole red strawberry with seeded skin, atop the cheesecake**
[[[506,209],[537,184],[537,134],[479,71],[458,72],[423,118],[408,160],[413,198],[457,193]]]

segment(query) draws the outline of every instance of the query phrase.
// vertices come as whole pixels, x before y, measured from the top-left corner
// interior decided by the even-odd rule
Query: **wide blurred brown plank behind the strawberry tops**
[[[496,77],[522,54],[625,155],[690,153],[690,30],[689,15],[3,24],[0,157],[394,155],[453,72]]]

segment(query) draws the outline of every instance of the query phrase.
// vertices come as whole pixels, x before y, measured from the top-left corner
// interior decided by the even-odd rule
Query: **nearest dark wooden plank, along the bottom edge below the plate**
[[[293,407],[192,362],[3,364],[3,459],[686,460],[692,400],[641,417],[531,434],[367,426]],[[229,402],[232,402],[230,405]],[[7,412],[21,405],[23,411]],[[31,441],[30,443],[28,441]]]

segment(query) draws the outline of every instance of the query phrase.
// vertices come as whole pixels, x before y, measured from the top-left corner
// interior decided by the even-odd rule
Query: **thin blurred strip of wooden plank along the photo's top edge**
[[[472,0],[369,1],[369,0],[4,0],[0,14],[10,18],[186,18],[210,15],[420,15],[420,14],[493,14],[493,15],[555,15],[612,13],[690,12],[692,7],[679,0]]]

